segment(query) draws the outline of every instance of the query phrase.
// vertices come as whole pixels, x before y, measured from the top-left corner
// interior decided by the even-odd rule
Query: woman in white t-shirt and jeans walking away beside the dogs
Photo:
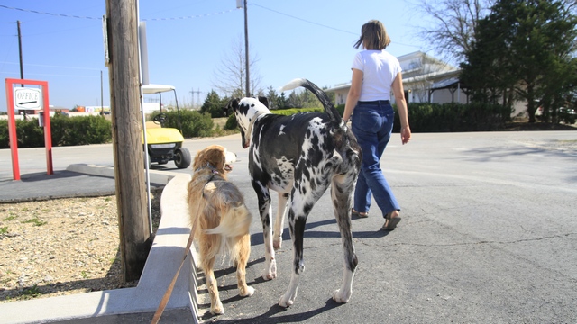
[[[361,45],[353,60],[353,81],[344,106],[343,120],[352,120],[353,133],[362,148],[362,170],[354,191],[353,216],[366,218],[371,207],[371,194],[385,218],[382,230],[395,229],[400,221],[395,195],[380,170],[380,157],[389,143],[395,112],[390,105],[391,91],[400,118],[400,139],[411,138],[408,128],[407,102],[398,59],[385,49],[390,43],[385,26],[377,20],[362,25]]]

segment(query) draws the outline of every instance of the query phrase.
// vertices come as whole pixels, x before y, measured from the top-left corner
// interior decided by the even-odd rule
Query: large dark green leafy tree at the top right
[[[466,52],[462,80],[479,100],[503,95],[527,102],[530,122],[537,104],[560,104],[575,82],[572,68],[577,17],[563,1],[504,0],[478,23]]]

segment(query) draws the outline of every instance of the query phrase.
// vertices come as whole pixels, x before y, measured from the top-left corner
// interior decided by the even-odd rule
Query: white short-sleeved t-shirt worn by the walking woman
[[[390,100],[393,80],[401,71],[397,58],[385,49],[362,50],[355,55],[353,68],[362,71],[359,101]]]

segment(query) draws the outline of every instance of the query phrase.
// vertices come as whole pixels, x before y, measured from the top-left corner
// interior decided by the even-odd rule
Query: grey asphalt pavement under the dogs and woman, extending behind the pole
[[[325,193],[307,220],[306,270],[288,309],[277,302],[290,280],[289,230],[277,252],[278,278],[263,281],[262,228],[248,151],[238,135],[187,140],[185,146],[194,155],[213,143],[239,157],[229,180],[243,191],[253,213],[246,277],[256,293],[239,297],[234,269],[224,261],[216,265],[221,270],[215,275],[225,313],[211,316],[206,301],[201,320],[577,322],[577,131],[417,133],[405,146],[393,134],[381,167],[402,208],[398,228],[379,230],[384,220],[375,203],[368,219],[353,220],[359,266],[351,301],[337,304],[331,296],[343,280],[343,248]],[[14,202],[17,195],[30,199],[33,193],[69,195],[70,186],[73,193],[96,187],[114,191],[110,178],[66,171],[72,164],[114,165],[110,145],[54,148],[55,175],[42,175],[43,153],[40,148],[19,150],[23,178],[18,182],[11,180],[10,150],[0,150],[0,201]],[[150,320],[133,316],[120,321]]]

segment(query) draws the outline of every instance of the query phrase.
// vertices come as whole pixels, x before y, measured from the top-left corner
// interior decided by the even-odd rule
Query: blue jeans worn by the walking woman
[[[383,217],[391,211],[400,211],[379,162],[389,143],[394,120],[395,111],[390,104],[358,103],[354,108],[352,129],[362,148],[362,167],[354,190],[355,211],[369,211],[371,194]]]

